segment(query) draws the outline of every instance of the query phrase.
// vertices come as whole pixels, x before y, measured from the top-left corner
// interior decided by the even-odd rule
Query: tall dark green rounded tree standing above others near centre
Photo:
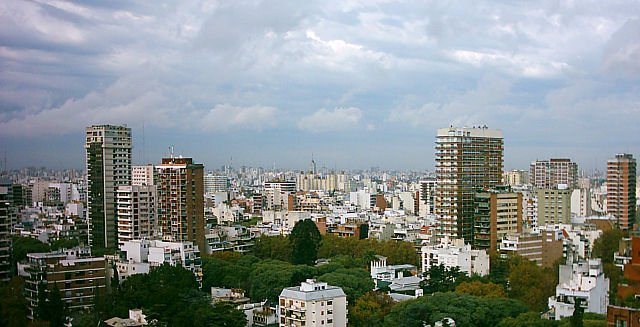
[[[311,219],[300,220],[291,230],[291,262],[294,264],[314,265],[318,259],[318,248],[322,236]]]

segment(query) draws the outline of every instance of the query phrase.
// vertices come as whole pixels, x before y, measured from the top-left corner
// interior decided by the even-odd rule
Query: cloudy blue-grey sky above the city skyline
[[[505,168],[640,155],[639,1],[0,2],[0,157],[83,168],[127,124],[222,165],[432,170],[437,128],[500,129]]]

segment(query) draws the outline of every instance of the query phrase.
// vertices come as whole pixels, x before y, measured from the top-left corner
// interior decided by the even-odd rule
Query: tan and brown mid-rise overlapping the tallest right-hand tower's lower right
[[[522,232],[522,193],[495,189],[475,193],[473,247],[496,250],[507,235]]]

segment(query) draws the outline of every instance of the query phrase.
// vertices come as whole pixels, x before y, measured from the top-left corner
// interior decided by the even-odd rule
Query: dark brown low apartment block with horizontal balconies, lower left
[[[62,249],[50,253],[29,253],[24,266],[25,297],[30,319],[38,305],[38,293],[57,288],[70,311],[86,310],[98,294],[106,292],[106,261],[91,257],[89,248]]]

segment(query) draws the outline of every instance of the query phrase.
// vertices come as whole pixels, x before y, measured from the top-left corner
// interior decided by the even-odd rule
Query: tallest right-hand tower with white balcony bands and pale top
[[[502,131],[440,128],[436,139],[435,214],[438,237],[473,243],[474,193],[500,185]]]

